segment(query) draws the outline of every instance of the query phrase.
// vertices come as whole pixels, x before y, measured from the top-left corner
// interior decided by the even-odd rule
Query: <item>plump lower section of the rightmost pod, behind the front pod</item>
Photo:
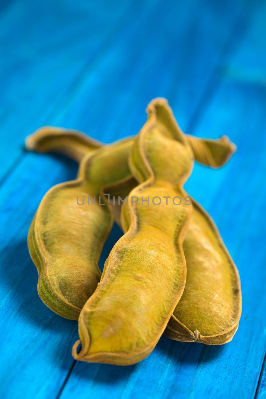
[[[221,345],[230,342],[241,315],[241,288],[213,220],[194,200],[183,242],[187,280],[165,334],[174,340]]]

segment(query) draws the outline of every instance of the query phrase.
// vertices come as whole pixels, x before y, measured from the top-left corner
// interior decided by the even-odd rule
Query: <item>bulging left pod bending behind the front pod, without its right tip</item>
[[[131,147],[131,140],[124,140],[88,154],[79,177],[51,188],[36,211],[28,247],[39,273],[38,293],[63,317],[77,320],[100,280],[98,260],[113,223],[102,188],[130,177]],[[95,205],[87,205],[88,197]]]

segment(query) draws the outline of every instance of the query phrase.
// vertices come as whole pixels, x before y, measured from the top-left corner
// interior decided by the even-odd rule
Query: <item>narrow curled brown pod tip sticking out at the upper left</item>
[[[60,152],[77,162],[80,162],[88,152],[100,148],[102,145],[78,130],[54,126],[43,126],[35,130],[25,140],[27,150]]]

